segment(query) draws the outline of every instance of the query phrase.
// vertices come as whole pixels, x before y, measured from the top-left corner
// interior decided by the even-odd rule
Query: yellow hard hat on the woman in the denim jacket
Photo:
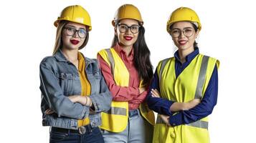
[[[62,20],[83,24],[85,26],[89,26],[89,31],[92,30],[92,25],[90,24],[90,15],[84,8],[82,8],[82,6],[67,6],[62,10],[62,13],[58,19],[54,21],[54,26],[58,26],[59,21]]]

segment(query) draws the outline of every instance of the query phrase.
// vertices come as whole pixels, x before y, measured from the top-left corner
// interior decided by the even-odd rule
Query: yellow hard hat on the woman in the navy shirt
[[[196,26],[199,31],[202,29],[202,25],[199,20],[199,16],[197,16],[196,12],[187,7],[180,7],[171,13],[169,20],[167,21],[166,29],[169,32],[171,24],[177,21],[191,21],[196,22]]]

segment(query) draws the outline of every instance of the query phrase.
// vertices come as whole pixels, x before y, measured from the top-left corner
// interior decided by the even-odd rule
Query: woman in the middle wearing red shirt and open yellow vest
[[[112,24],[112,46],[98,53],[113,96],[111,109],[102,113],[104,141],[152,142],[155,119],[144,100],[153,70],[141,13],[136,6],[124,4],[116,11]]]

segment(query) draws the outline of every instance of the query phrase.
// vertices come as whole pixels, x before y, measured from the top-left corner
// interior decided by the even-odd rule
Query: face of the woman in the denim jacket
[[[87,31],[85,25],[69,22],[62,30],[63,48],[79,49],[85,41]]]

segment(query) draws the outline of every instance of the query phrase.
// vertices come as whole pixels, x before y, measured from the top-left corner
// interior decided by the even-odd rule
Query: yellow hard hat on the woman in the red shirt
[[[115,12],[112,25],[115,26],[115,21],[119,21],[121,19],[135,19],[139,21],[141,25],[143,25],[140,11],[138,11],[138,8],[132,4],[124,4],[118,8],[118,10]]]

